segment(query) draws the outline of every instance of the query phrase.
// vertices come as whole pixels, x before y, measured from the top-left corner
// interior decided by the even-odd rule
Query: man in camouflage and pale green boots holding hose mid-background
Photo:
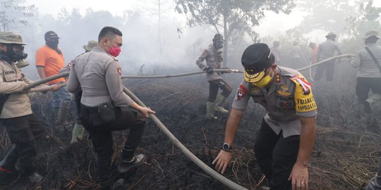
[[[207,119],[217,119],[217,117],[214,117],[214,111],[228,113],[228,110],[222,107],[222,103],[231,94],[231,87],[224,81],[221,73],[213,71],[222,68],[224,37],[222,37],[222,34],[215,34],[212,41],[213,44],[210,44],[209,48],[205,49],[196,61],[200,69],[206,70],[207,81],[210,84],[205,115]],[[203,63],[204,60],[206,60],[206,64]],[[218,89],[222,89],[221,94],[218,94]]]

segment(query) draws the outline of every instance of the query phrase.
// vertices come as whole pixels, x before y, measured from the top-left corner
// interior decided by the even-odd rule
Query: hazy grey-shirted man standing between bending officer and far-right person
[[[334,41],[336,39],[336,34],[333,32],[329,32],[326,36],[327,40],[319,45],[319,49],[317,49],[317,62],[323,61],[327,58],[332,58],[334,56],[334,51],[337,51],[339,55],[341,55],[341,51],[339,49],[339,45]],[[325,77],[327,77],[327,81],[332,82],[334,75],[334,63],[336,60],[327,61],[322,65],[318,65],[316,68],[315,77],[313,80],[320,80],[323,72],[325,71]]]

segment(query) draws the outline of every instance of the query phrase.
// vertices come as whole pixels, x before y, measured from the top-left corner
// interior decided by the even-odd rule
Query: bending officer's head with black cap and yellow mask
[[[258,82],[272,65],[271,51],[267,44],[252,44],[243,51],[241,63],[245,68],[243,79],[246,82]]]

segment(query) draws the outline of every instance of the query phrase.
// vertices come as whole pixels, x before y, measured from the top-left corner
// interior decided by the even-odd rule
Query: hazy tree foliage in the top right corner
[[[307,13],[297,27],[302,33],[327,30],[353,38],[380,28],[381,8],[374,7],[373,0],[299,0],[297,5]]]

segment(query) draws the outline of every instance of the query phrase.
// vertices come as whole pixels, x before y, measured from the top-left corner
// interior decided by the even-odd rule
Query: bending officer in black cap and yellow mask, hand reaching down
[[[226,122],[222,151],[213,164],[222,173],[228,167],[238,124],[251,96],[267,110],[254,151],[271,189],[308,189],[317,115],[310,84],[298,71],[277,66],[267,44],[248,46],[241,61],[243,81]]]

